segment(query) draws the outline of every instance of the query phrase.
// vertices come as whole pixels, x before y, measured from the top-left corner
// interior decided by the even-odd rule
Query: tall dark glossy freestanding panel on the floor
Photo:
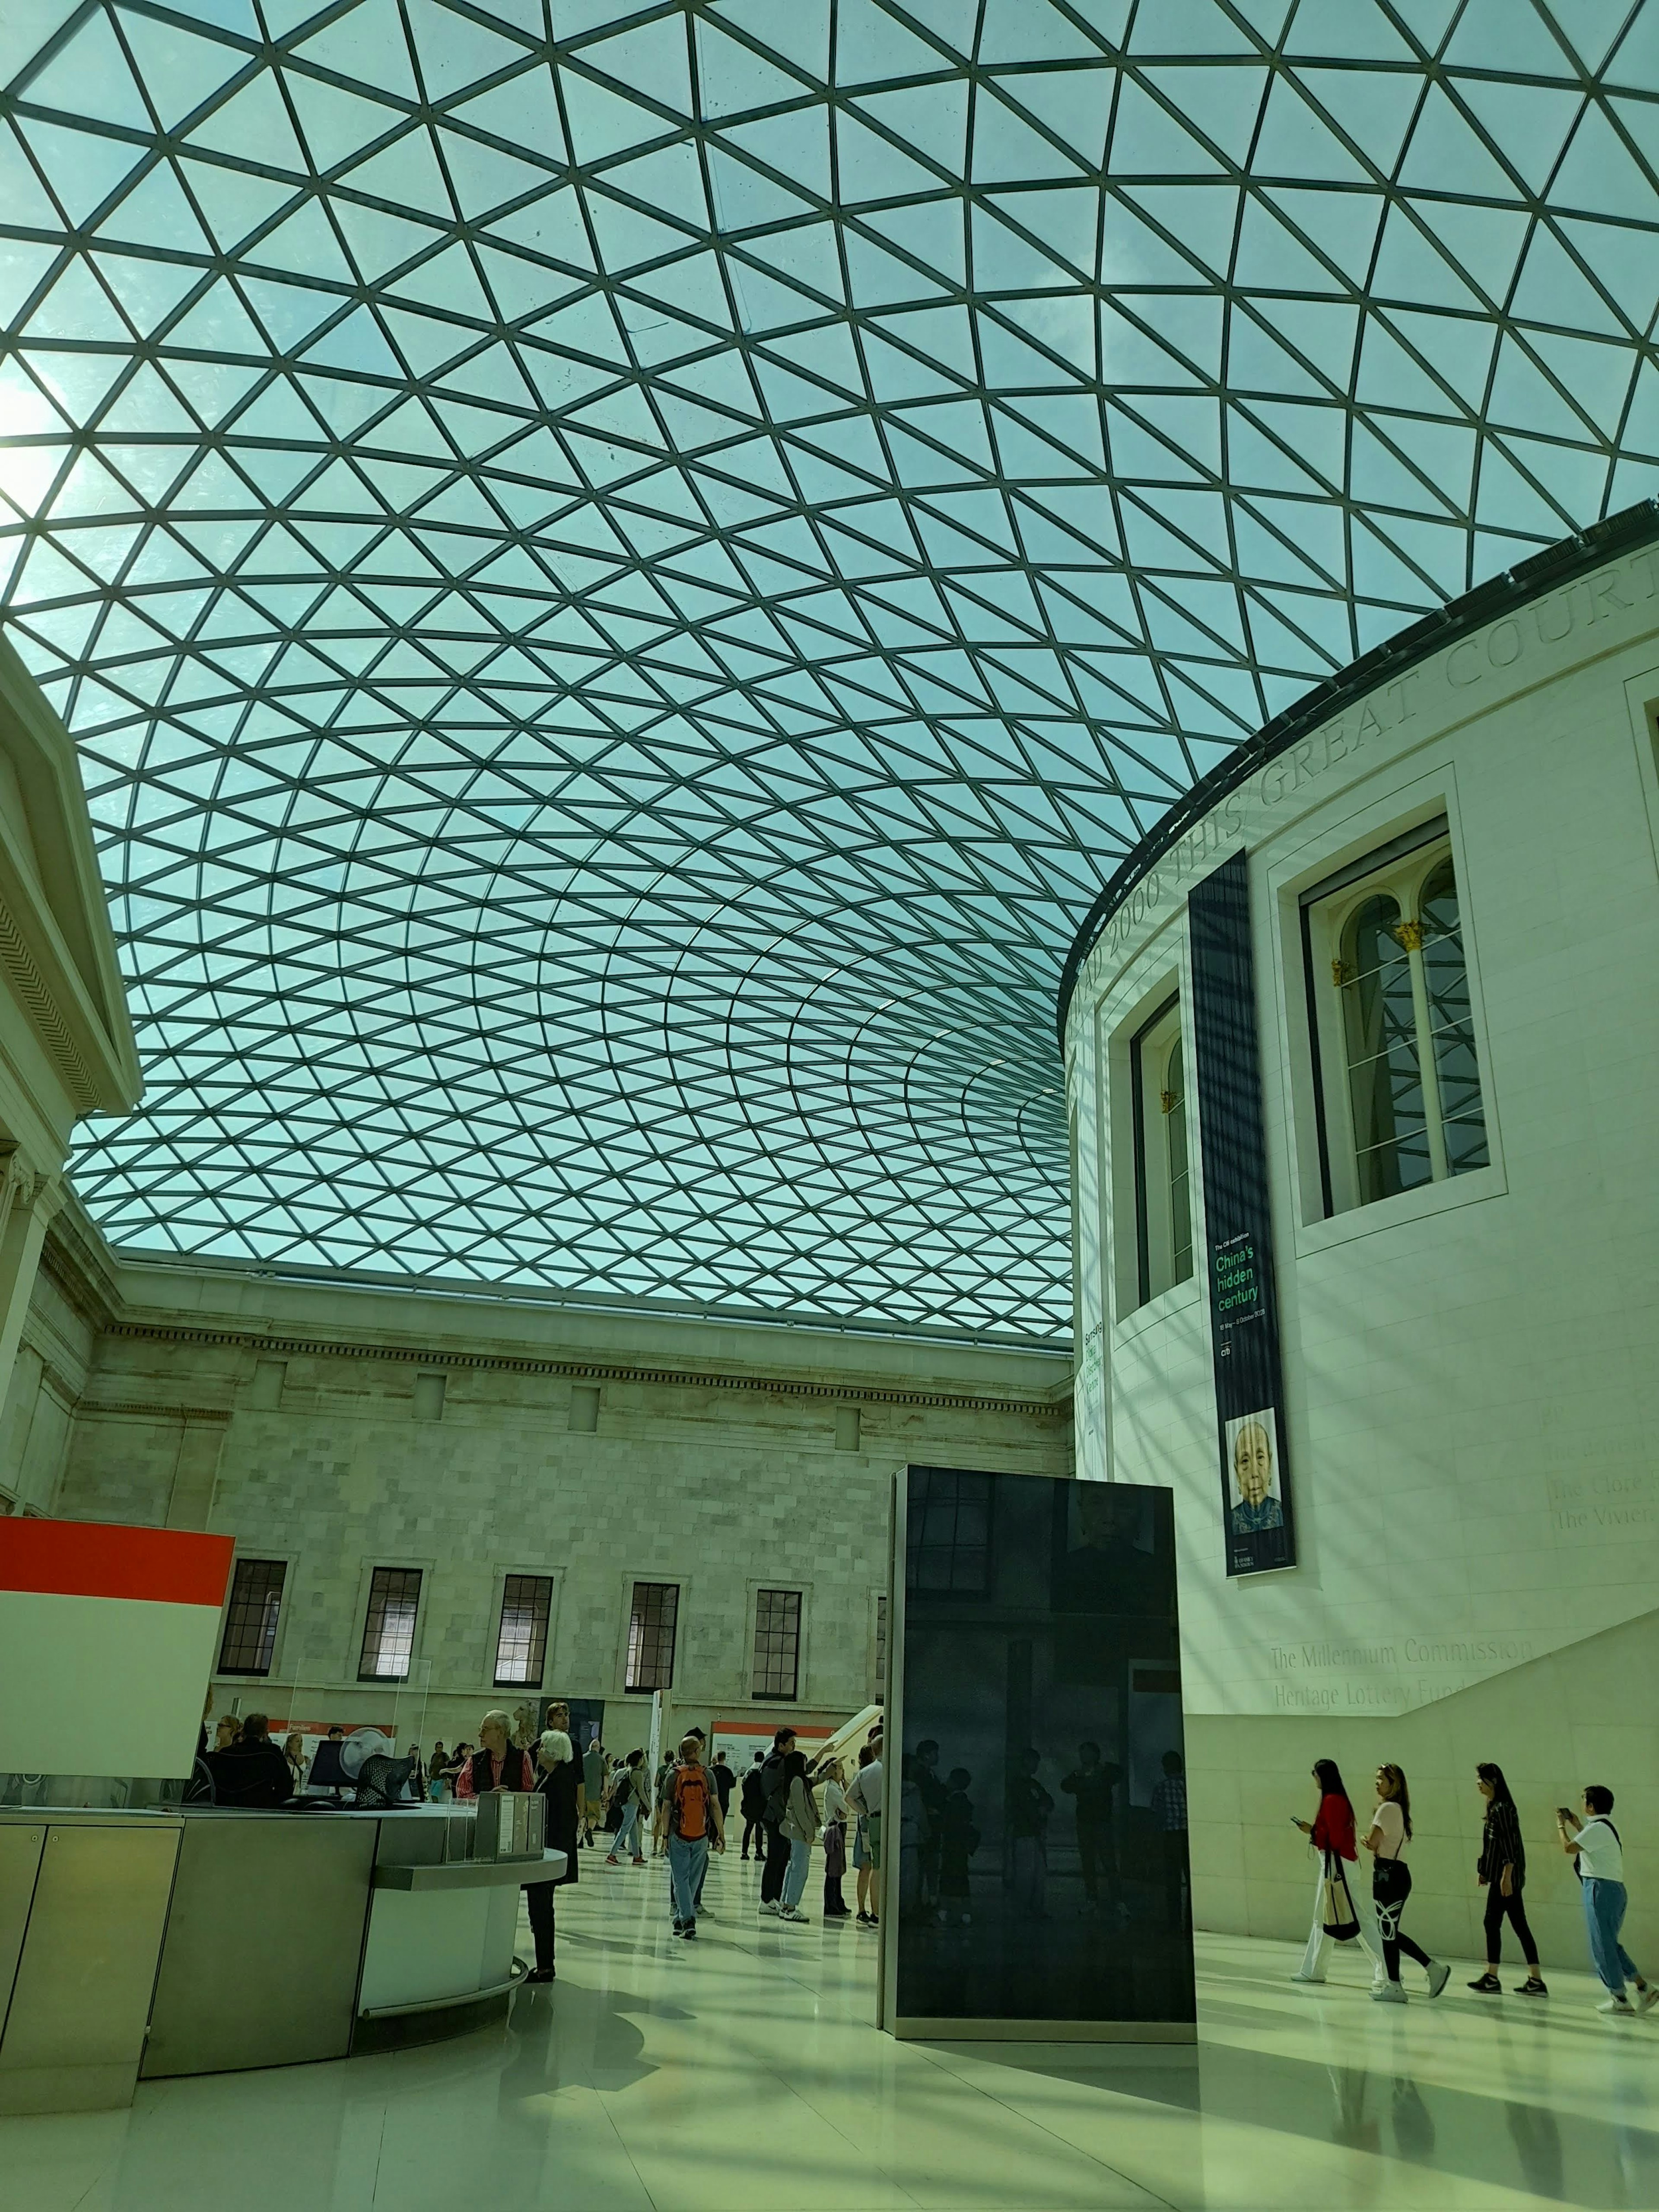
[[[1170,1493],[911,1467],[900,1524],[891,2024],[1190,2022]]]

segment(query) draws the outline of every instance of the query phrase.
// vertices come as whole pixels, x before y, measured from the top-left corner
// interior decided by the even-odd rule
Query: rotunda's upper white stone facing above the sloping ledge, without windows
[[[1270,763],[1084,964],[1077,1460],[1177,1491],[1190,1712],[1400,1714],[1655,1606],[1655,699],[1641,553]],[[1493,1166],[1325,1221],[1296,894],[1440,812]],[[1301,1564],[1228,1582],[1201,1221],[1197,1276],[1135,1310],[1126,1093],[1128,1035],[1172,982],[1186,995],[1186,889],[1237,845]]]

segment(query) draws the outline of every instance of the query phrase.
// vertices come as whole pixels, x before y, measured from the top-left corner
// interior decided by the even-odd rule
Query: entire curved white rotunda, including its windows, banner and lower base
[[[1416,1763],[1464,1949],[1473,1759],[1540,1856],[1584,1781],[1659,1812],[1659,511],[1528,568],[1265,732],[1075,962],[1077,1471],[1175,1489],[1210,1927],[1305,1918],[1321,1752]]]

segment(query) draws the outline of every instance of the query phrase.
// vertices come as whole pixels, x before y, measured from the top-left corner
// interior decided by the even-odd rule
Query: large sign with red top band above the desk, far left
[[[0,1772],[188,1774],[234,1548],[0,1520]]]

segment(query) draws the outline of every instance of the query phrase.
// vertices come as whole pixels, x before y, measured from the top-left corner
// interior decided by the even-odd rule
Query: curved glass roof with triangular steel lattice
[[[1102,880],[1659,489],[1659,4],[9,0],[0,84],[131,1248],[1064,1336]]]

